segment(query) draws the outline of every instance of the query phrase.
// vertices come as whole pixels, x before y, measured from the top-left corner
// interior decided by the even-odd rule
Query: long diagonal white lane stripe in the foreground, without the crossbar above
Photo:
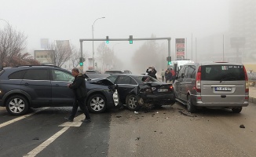
[[[53,141],[57,139],[57,137],[60,137],[62,133],[68,130],[69,127],[64,127],[62,130],[55,133],[52,137],[49,137],[46,141],[44,141],[42,144],[38,145],[37,148],[33,149],[31,152],[27,153],[27,155],[24,155],[24,157],[33,157],[35,155],[38,155],[39,152],[42,152],[44,148],[46,148],[49,144],[51,144]]]

